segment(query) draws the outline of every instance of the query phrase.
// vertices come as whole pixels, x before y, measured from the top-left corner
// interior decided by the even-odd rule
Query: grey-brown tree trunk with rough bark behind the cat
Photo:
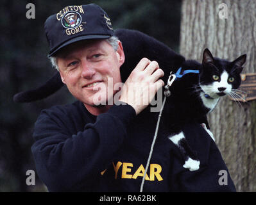
[[[226,19],[219,16],[225,9],[221,3],[227,5]],[[180,54],[186,59],[201,61],[206,47],[228,60],[246,53],[243,73],[256,72],[255,45],[255,0],[183,0]],[[256,101],[223,97],[208,119],[237,192],[256,192]]]

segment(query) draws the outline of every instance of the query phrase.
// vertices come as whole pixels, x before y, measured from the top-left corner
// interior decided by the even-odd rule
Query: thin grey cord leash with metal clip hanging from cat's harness
[[[175,79],[176,79],[176,75],[174,74],[174,72],[171,72],[170,76],[169,76],[169,78],[167,80],[167,85],[164,86],[164,88],[165,88],[165,90],[164,90],[164,101],[163,101],[160,113],[158,115],[157,127],[155,129],[155,135],[154,135],[154,138],[153,138],[153,142],[151,143],[151,148],[150,148],[150,152],[149,152],[149,156],[148,156],[148,162],[147,162],[147,165],[146,165],[146,168],[145,168],[144,176],[142,178],[140,192],[143,191],[145,177],[146,177],[146,174],[148,172],[148,167],[149,167],[149,163],[150,163],[151,156],[152,156],[152,153],[153,153],[153,148],[154,148],[154,145],[155,145],[155,140],[157,139],[157,133],[158,133],[158,128],[159,128],[159,124],[160,124],[160,118],[162,116],[162,111],[164,110],[164,104],[166,104],[166,97],[169,97],[171,95],[171,91],[169,90],[169,87],[173,84]]]

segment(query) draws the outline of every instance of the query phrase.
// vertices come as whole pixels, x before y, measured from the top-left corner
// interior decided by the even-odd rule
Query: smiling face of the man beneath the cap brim
[[[123,62],[121,42],[117,51],[114,51],[106,40],[76,42],[57,54],[62,81],[87,109],[94,108],[99,101],[108,104],[108,99],[118,91],[113,92],[113,86],[121,82],[119,68]]]

